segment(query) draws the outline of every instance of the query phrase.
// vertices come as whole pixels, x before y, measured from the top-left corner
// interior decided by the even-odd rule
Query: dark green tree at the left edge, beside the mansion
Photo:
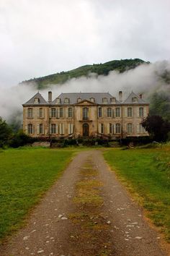
[[[4,148],[12,137],[12,129],[3,121],[0,116],[0,148]]]

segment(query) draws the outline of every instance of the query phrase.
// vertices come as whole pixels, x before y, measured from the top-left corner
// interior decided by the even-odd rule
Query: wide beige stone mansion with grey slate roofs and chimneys
[[[139,137],[148,116],[142,95],[117,101],[109,93],[61,93],[48,101],[40,93],[23,104],[23,130],[32,137]]]

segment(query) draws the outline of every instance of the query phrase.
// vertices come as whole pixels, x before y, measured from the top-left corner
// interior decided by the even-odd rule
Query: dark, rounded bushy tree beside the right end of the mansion
[[[170,122],[161,116],[148,116],[143,120],[142,126],[156,141],[166,141],[169,137]]]

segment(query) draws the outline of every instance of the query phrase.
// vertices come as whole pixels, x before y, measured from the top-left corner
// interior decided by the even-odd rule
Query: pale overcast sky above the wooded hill
[[[0,0],[0,87],[113,59],[170,59],[169,0]]]

